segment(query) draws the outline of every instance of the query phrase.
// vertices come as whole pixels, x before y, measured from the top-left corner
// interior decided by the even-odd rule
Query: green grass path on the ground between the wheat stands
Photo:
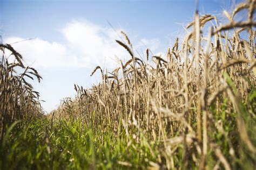
[[[125,132],[117,132],[117,138],[112,131],[92,131],[80,119],[50,126],[46,119],[24,123],[23,130],[16,124],[2,142],[0,169],[126,169],[156,161],[148,149],[154,144],[133,142],[136,139],[127,139]],[[121,165],[124,162],[129,164]]]

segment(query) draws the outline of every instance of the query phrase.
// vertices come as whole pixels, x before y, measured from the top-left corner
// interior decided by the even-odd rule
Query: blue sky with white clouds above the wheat
[[[199,12],[221,17],[232,0],[199,0]],[[0,0],[0,35],[25,63],[38,69],[43,82],[35,83],[46,111],[64,97],[74,96],[73,84],[87,88],[100,82],[90,77],[97,65],[111,70],[116,60],[129,55],[114,39],[124,30],[140,55],[146,47],[164,53],[177,36],[183,36],[193,18],[194,1],[21,1]],[[113,28],[107,22],[109,21]]]

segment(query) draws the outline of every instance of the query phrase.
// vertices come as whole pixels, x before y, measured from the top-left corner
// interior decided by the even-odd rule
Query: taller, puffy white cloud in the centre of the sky
[[[115,55],[120,58],[128,56],[125,49],[114,41],[118,36],[111,29],[87,21],[73,21],[66,24],[62,32],[68,41],[68,46],[82,61],[81,66],[95,67],[95,65],[103,66],[105,63],[107,67],[111,67],[115,63],[112,60]]]

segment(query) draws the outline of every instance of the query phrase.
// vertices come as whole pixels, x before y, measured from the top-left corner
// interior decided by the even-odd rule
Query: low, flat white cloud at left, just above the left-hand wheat
[[[23,38],[10,37],[5,43],[22,41]],[[33,67],[67,67],[76,66],[78,59],[69,55],[67,48],[57,42],[48,42],[39,38],[22,41],[12,45],[16,51],[22,54],[24,61]]]

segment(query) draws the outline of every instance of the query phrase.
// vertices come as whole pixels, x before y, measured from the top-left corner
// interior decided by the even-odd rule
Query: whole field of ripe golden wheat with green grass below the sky
[[[0,169],[255,169],[255,9],[196,11],[166,56],[137,56],[120,32],[130,60],[97,66],[100,83],[49,115],[28,81],[42,77],[0,44]]]

